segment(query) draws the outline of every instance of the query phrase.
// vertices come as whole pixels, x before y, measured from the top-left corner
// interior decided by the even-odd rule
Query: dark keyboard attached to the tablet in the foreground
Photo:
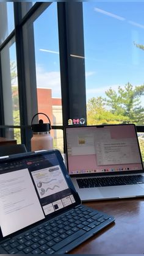
[[[112,216],[81,205],[6,240],[0,253],[64,254],[113,221]]]

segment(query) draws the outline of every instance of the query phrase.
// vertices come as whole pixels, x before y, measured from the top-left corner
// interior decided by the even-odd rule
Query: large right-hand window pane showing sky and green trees
[[[83,2],[87,123],[144,122],[144,3]]]

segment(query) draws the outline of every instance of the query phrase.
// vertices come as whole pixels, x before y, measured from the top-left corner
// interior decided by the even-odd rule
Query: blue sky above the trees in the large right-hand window
[[[143,16],[143,3],[84,3],[85,66],[94,73],[87,78],[87,97],[143,83],[144,51],[133,43],[144,44]]]

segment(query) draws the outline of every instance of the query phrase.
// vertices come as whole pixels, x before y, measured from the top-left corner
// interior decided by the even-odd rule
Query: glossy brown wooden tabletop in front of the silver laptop
[[[110,224],[70,254],[143,254],[144,197],[84,203],[115,216]]]

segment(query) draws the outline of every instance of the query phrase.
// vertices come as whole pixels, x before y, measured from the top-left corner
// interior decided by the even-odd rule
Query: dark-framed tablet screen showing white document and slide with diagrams
[[[79,197],[58,150],[0,161],[0,238],[77,203]]]

